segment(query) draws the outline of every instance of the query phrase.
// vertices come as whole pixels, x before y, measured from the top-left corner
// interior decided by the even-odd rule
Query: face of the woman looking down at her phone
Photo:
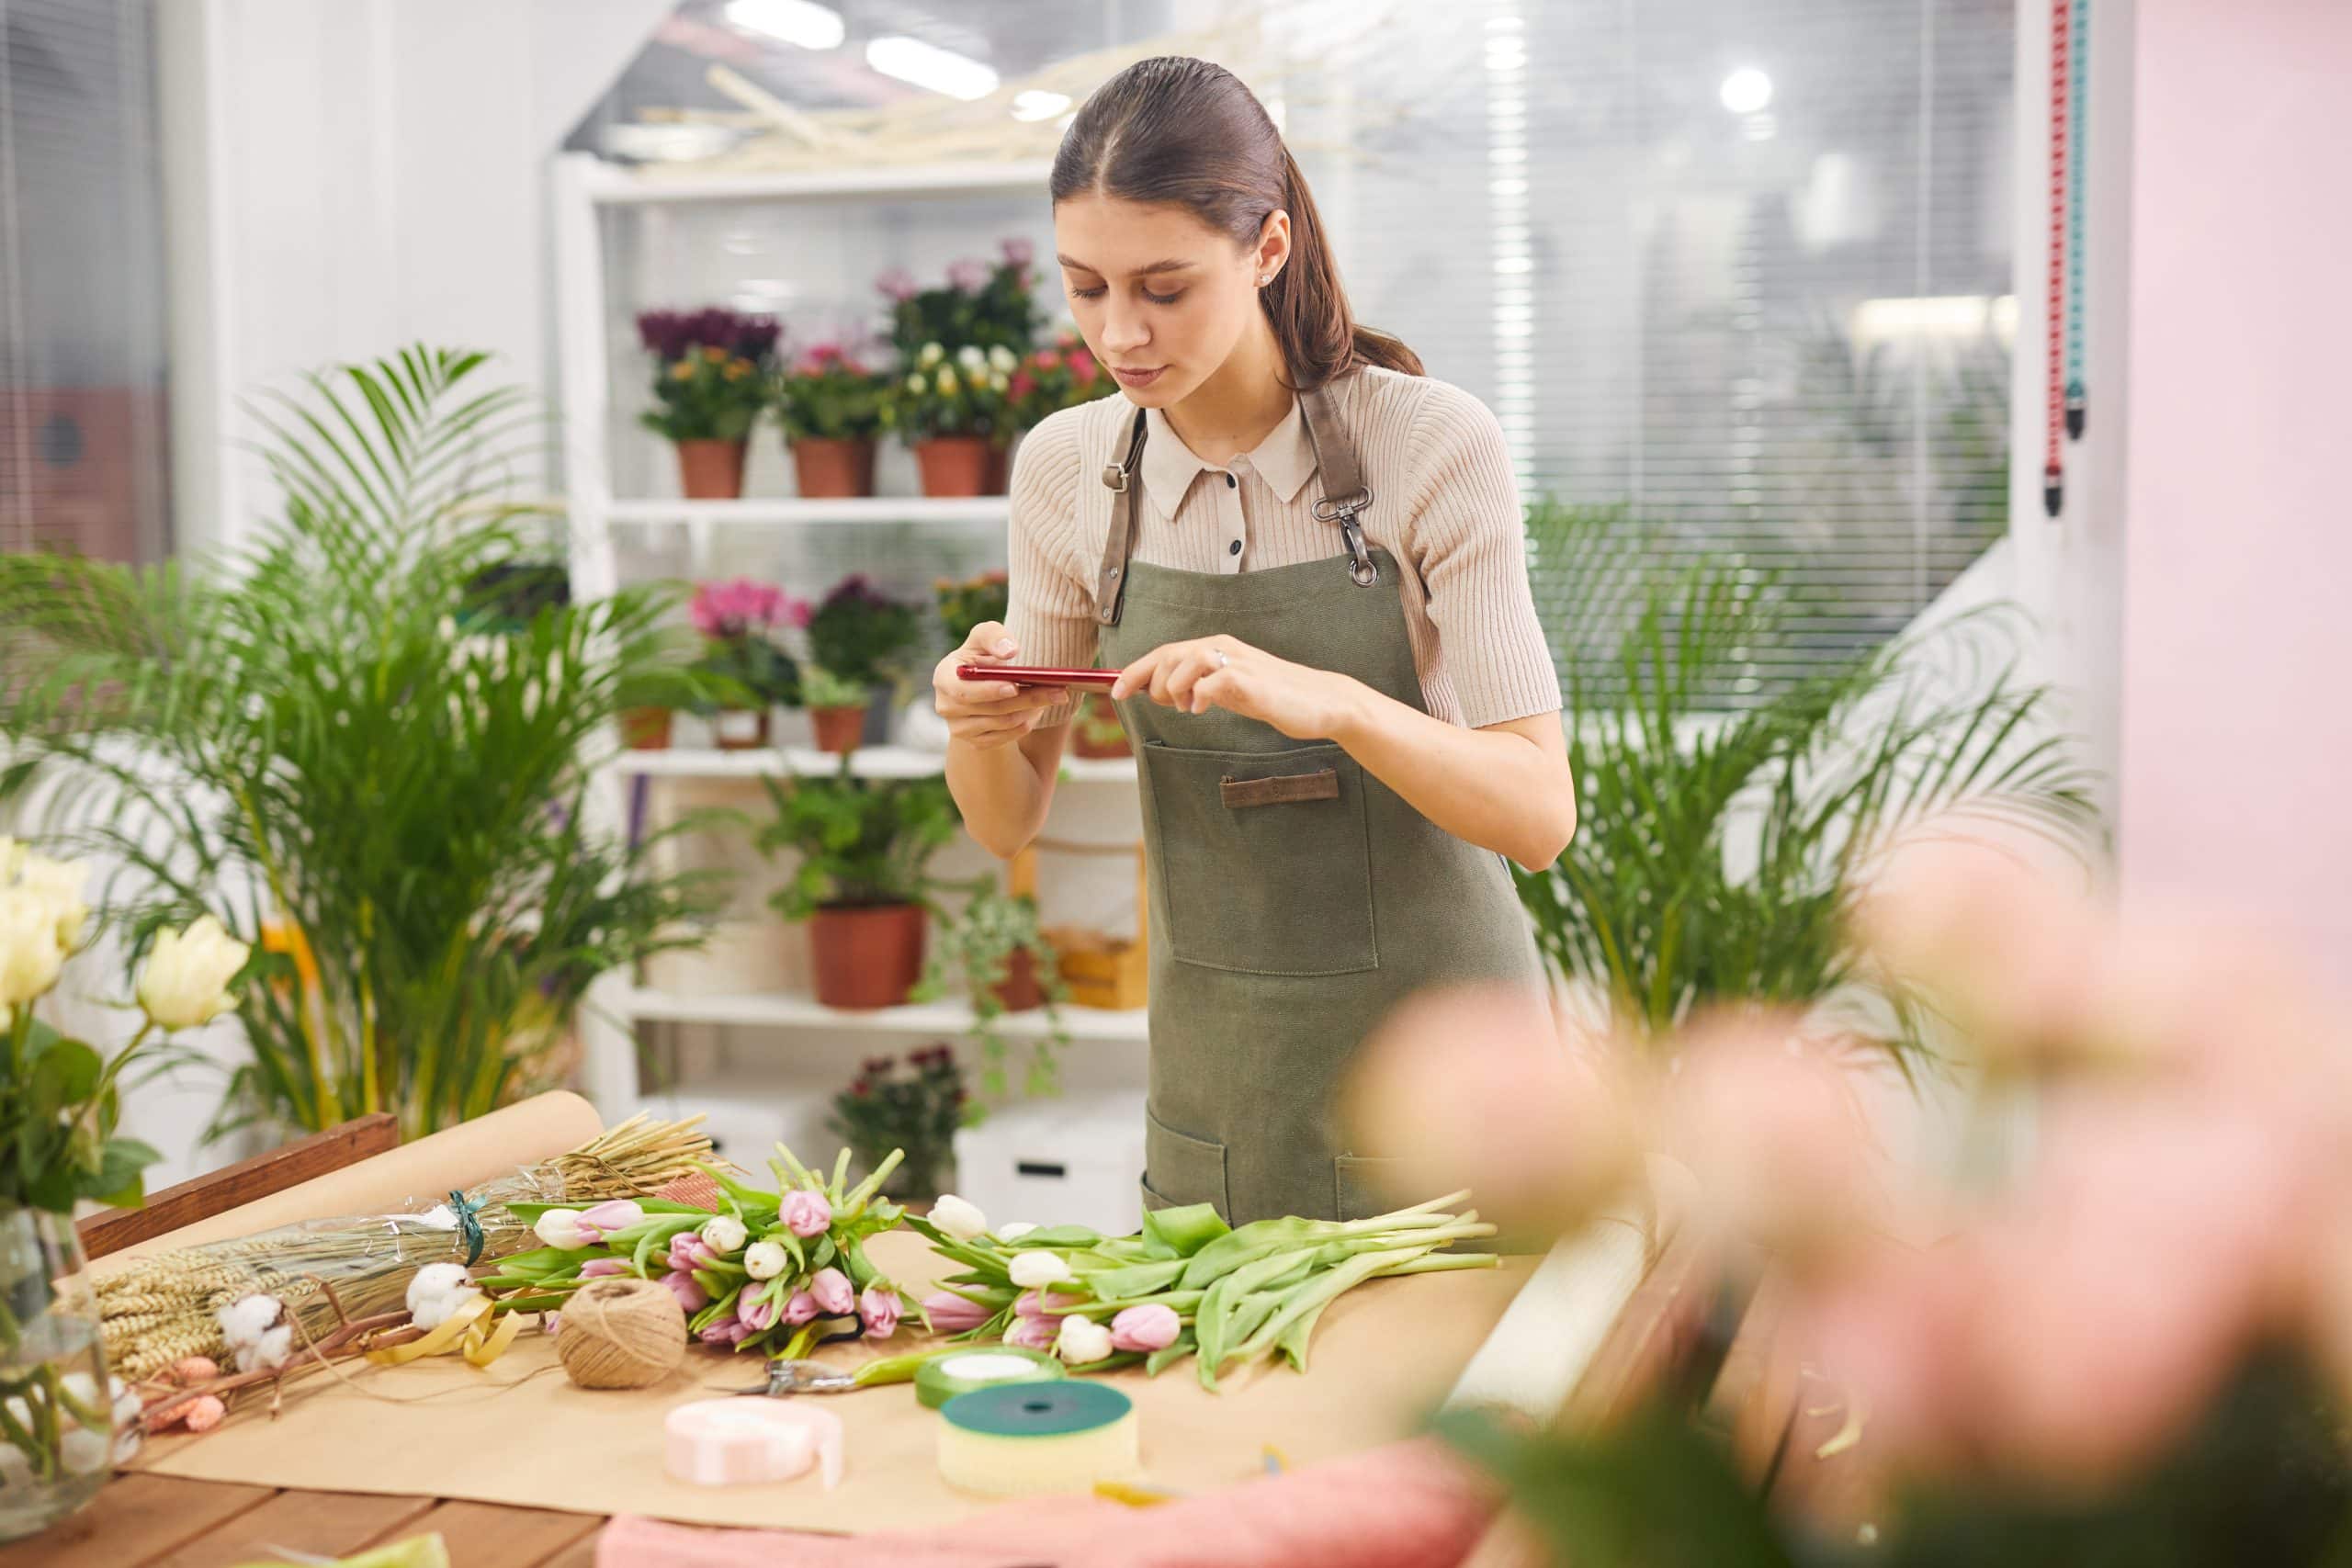
[[[1054,207],[1070,315],[1136,404],[1197,390],[1258,315],[1258,275],[1282,266],[1289,216],[1235,244],[1183,207],[1077,195]]]

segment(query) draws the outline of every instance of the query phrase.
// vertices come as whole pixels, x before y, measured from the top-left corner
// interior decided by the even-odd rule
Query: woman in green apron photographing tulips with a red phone
[[[1541,870],[1576,827],[1510,456],[1352,322],[1298,165],[1218,66],[1105,82],[1051,190],[1124,397],[1021,449],[1011,625],[934,675],[948,785],[981,844],[1028,844],[1065,696],[957,665],[1117,668],[1152,882],[1143,1199],[1381,1213],[1341,1070],[1423,985],[1538,983],[1503,856]]]

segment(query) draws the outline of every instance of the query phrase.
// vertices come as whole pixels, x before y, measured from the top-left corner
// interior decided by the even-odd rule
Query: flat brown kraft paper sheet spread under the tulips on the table
[[[946,1272],[910,1232],[880,1237],[870,1255],[910,1295],[922,1295]],[[1190,1361],[1157,1380],[1141,1368],[1115,1373],[1112,1382],[1141,1413],[1148,1483],[1207,1490],[1261,1474],[1268,1446],[1289,1465],[1310,1465],[1409,1436],[1444,1399],[1531,1267],[1529,1258],[1505,1258],[1494,1272],[1359,1286],[1324,1314],[1308,1375],[1275,1366],[1228,1378],[1223,1394],[1209,1394]],[[908,1326],[889,1349],[920,1345]],[[863,1345],[823,1352],[844,1366],[873,1354],[880,1352]],[[586,1392],[562,1375],[553,1342],[532,1331],[482,1371],[456,1356],[346,1371],[358,1387],[306,1373],[289,1385],[280,1418],[270,1420],[254,1401],[205,1436],[151,1443],[139,1469],[835,1533],[953,1523],[990,1507],[938,1479],[938,1418],[915,1403],[910,1385],[807,1396],[826,1399],[849,1429],[847,1474],[826,1493],[814,1474],[781,1486],[699,1488],[663,1472],[663,1413],[757,1382],[757,1356],[696,1347],[684,1371],[659,1389]],[[386,1403],[367,1392],[414,1403]]]

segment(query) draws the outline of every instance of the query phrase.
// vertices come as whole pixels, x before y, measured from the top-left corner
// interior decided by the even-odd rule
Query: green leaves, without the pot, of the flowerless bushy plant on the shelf
[[[779,914],[797,922],[844,905],[929,907],[931,856],[962,823],[946,778],[856,778],[844,759],[840,773],[764,783],[776,816],[760,827],[760,853],[800,851],[800,870],[769,898]]]

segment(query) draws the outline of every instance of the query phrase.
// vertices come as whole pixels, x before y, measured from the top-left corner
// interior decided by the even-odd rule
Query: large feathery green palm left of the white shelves
[[[216,1131],[477,1117],[590,978],[717,907],[708,875],[656,872],[659,837],[588,827],[614,715],[703,693],[673,590],[461,630],[485,574],[543,548],[506,501],[541,414],[482,362],[409,348],[268,395],[285,517],[233,559],[0,557],[0,731],[26,759],[0,785],[87,785],[71,820],[127,867],[134,943],[212,912],[278,950]]]

